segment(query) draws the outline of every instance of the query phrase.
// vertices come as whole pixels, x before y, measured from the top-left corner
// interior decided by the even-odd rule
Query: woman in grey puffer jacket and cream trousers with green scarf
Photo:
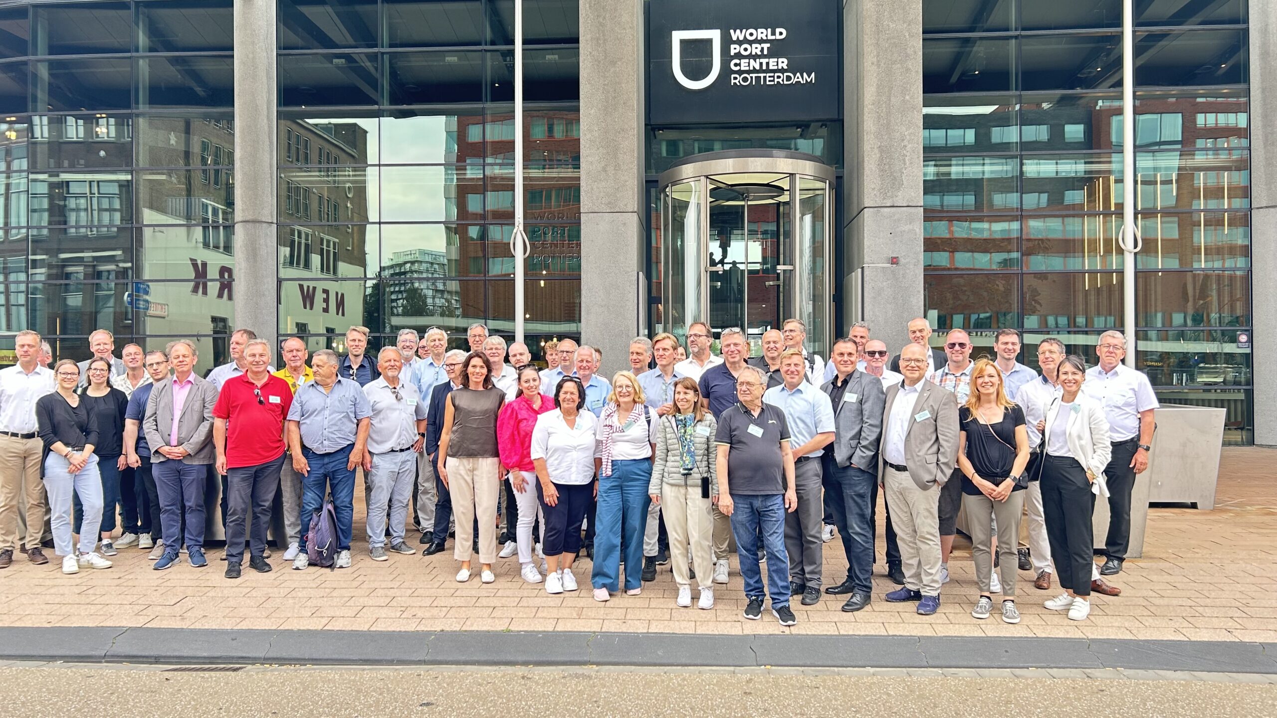
[[[701,408],[696,381],[678,379],[674,383],[674,413],[661,416],[658,424],[656,462],[647,492],[653,503],[661,505],[665,517],[678,606],[682,608],[692,604],[688,552],[701,589],[697,607],[714,608],[714,517],[710,506],[718,501],[716,433],[718,422]]]

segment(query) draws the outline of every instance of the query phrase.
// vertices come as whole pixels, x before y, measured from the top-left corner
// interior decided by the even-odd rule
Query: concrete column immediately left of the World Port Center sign
[[[608,378],[646,333],[642,144],[642,1],[581,0],[581,339]]]

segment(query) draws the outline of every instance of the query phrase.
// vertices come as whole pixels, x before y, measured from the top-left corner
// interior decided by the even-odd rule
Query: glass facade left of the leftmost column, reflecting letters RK
[[[0,9],[0,332],[59,358],[102,327],[227,359],[231,0]]]

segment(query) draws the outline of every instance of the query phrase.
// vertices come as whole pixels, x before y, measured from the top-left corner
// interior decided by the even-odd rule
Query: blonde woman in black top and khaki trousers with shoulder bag
[[[1022,479],[1029,461],[1029,437],[1024,410],[1006,399],[1002,372],[988,359],[976,362],[971,372],[971,395],[958,409],[958,468],[963,473],[962,505],[967,510],[972,558],[979,600],[971,615],[988,618],[994,609],[992,534],[997,531],[1001,553],[1002,621],[1019,623],[1015,608],[1015,547],[1024,510]]]

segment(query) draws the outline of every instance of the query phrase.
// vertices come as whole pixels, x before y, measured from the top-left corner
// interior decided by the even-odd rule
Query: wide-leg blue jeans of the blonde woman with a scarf
[[[626,589],[642,588],[642,535],[647,529],[647,484],[651,461],[633,459],[612,462],[612,475],[599,477],[599,523],[594,533],[596,589],[621,590],[621,547],[626,551]]]

